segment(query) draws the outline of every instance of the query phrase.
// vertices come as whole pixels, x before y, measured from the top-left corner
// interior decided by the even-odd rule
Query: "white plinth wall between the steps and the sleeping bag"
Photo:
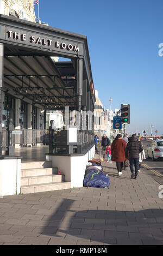
[[[52,166],[58,167],[61,174],[65,175],[65,181],[71,182],[71,188],[83,187],[86,163],[95,156],[95,146],[84,156],[46,156],[46,160],[52,161]]]

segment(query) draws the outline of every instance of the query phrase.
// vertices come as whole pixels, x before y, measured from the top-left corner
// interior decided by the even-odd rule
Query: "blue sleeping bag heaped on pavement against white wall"
[[[84,187],[108,188],[110,178],[103,171],[92,166],[92,169],[86,170],[83,185]]]

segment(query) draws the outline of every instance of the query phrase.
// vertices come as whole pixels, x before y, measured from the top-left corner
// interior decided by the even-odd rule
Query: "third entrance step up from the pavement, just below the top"
[[[22,169],[21,177],[40,176],[40,175],[54,175],[58,174],[58,168],[35,168],[35,169]]]

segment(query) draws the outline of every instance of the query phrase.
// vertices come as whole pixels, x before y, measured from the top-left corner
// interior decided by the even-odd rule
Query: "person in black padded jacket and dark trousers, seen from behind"
[[[139,170],[139,153],[143,151],[141,142],[136,138],[136,135],[133,134],[128,139],[128,144],[125,151],[126,158],[129,158],[131,178],[134,178],[134,165],[135,165],[135,179],[137,178],[137,172]],[[129,157],[128,157],[129,153]]]

